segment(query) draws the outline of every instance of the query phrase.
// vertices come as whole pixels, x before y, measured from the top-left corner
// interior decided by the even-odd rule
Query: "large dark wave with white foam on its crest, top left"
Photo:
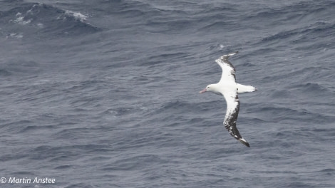
[[[4,23],[1,31],[6,38],[29,38],[48,36],[78,36],[100,31],[88,23],[88,16],[80,12],[60,9],[39,3],[20,3],[0,12]]]

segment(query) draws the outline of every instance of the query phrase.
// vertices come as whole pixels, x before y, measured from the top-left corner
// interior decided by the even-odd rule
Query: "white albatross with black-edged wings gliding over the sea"
[[[215,62],[219,64],[222,68],[222,75],[219,83],[214,83],[207,85],[204,90],[201,90],[200,93],[205,93],[210,91],[217,95],[223,95],[227,103],[227,110],[225,115],[225,120],[223,125],[230,132],[230,135],[235,139],[239,140],[242,144],[250,147],[249,142],[245,140],[240,134],[239,130],[236,127],[237,115],[239,115],[239,93],[253,92],[257,90],[252,85],[242,85],[236,83],[235,78],[235,68],[232,66],[232,63],[228,61],[230,56],[235,55],[238,51],[234,53],[221,56]]]

